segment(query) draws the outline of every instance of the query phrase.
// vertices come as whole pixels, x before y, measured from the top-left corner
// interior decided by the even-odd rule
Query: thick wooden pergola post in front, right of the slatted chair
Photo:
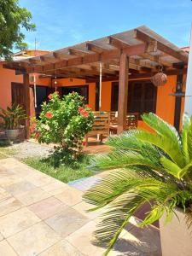
[[[119,102],[118,102],[118,129],[117,129],[118,134],[126,130],[128,75],[129,75],[129,58],[124,52],[121,52],[119,57]]]

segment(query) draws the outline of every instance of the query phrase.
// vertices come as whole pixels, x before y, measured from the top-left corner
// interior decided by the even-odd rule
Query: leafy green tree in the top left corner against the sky
[[[31,20],[32,14],[18,0],[0,0],[0,57],[11,58],[13,48],[23,43],[23,29],[35,30]]]

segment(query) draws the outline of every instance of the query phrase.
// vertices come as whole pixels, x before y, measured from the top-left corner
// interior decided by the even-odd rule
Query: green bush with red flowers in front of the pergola
[[[39,143],[55,143],[56,154],[70,154],[72,159],[82,151],[84,135],[91,130],[94,115],[84,97],[78,93],[70,93],[63,99],[55,92],[44,102],[39,119],[32,120],[32,137]]]

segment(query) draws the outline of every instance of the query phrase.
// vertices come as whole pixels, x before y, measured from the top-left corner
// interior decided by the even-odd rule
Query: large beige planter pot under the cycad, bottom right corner
[[[191,256],[192,234],[185,222],[185,214],[177,209],[177,217],[164,224],[164,218],[160,218],[160,241],[162,256]]]

